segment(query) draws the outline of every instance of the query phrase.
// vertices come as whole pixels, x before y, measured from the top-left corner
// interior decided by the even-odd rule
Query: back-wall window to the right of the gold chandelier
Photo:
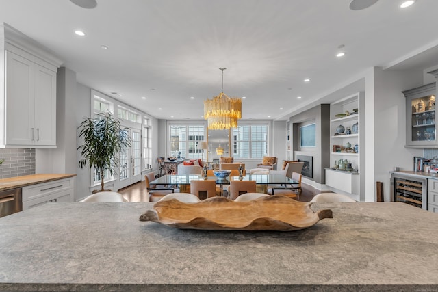
[[[233,129],[233,156],[259,159],[268,155],[268,124],[240,125]]]

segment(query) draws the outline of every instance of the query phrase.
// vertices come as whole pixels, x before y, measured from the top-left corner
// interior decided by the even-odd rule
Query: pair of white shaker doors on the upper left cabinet
[[[56,146],[56,72],[6,51],[5,144]]]

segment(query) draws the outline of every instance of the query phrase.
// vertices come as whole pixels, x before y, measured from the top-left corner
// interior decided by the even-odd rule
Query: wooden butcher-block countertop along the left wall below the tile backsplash
[[[56,181],[62,178],[69,178],[76,174],[31,174],[27,176],[16,176],[12,178],[0,179],[0,191],[15,189],[16,187],[25,187],[27,185],[35,185],[37,183],[47,183],[48,181]]]

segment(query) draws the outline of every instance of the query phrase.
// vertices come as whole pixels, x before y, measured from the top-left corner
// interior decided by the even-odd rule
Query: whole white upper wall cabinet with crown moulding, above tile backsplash
[[[60,61],[3,23],[0,147],[56,147],[56,75]]]

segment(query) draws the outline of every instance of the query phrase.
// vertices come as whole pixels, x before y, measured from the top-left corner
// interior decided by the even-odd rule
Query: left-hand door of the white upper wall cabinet
[[[34,135],[34,63],[6,51],[5,144],[26,146]]]

